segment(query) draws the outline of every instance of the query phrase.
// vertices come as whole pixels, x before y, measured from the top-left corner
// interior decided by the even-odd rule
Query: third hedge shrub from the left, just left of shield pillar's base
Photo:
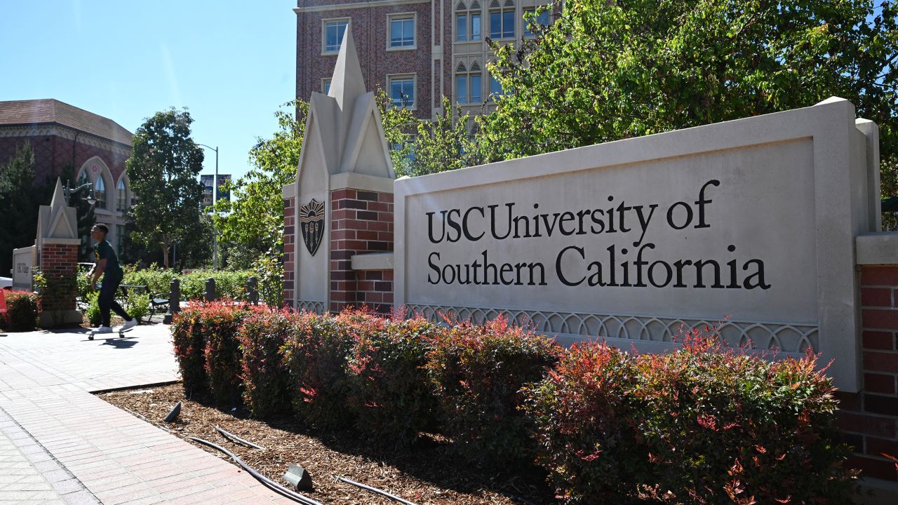
[[[294,312],[260,312],[237,332],[242,350],[243,402],[257,417],[290,412],[290,376],[280,349],[302,324]]]

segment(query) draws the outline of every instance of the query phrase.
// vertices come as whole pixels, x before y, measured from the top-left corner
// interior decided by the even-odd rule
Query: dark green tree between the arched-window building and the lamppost
[[[137,203],[130,210],[131,237],[147,248],[158,248],[169,266],[174,242],[188,238],[201,219],[203,186],[198,174],[203,150],[190,138],[193,119],[188,111],[156,112],[137,128],[125,167]]]

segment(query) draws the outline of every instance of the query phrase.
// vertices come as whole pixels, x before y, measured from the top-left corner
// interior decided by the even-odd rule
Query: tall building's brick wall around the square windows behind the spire
[[[300,0],[299,7],[319,4],[357,4],[357,0]],[[387,50],[387,19],[390,14],[415,13],[417,49]],[[356,41],[358,61],[365,77],[365,88],[386,89],[388,74],[417,75],[418,118],[431,117],[431,16],[430,3],[356,7],[324,12],[297,14],[296,20],[296,97],[308,102],[312,92],[321,93],[321,79],[333,75],[337,53],[321,54],[322,20],[349,18]],[[446,60],[448,61],[448,60]],[[451,91],[447,90],[451,94]]]

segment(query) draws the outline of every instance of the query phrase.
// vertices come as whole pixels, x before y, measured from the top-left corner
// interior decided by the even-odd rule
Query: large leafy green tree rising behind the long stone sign
[[[493,45],[490,73],[511,93],[480,118],[480,153],[537,155],[840,96],[879,124],[892,194],[896,13],[872,0],[569,0],[535,38]]]

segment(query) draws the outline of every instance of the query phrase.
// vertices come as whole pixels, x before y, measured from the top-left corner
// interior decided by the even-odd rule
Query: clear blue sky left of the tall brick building
[[[187,107],[239,177],[295,93],[295,0],[0,0],[0,100],[55,98],[132,133]],[[215,170],[206,152],[204,173]]]

